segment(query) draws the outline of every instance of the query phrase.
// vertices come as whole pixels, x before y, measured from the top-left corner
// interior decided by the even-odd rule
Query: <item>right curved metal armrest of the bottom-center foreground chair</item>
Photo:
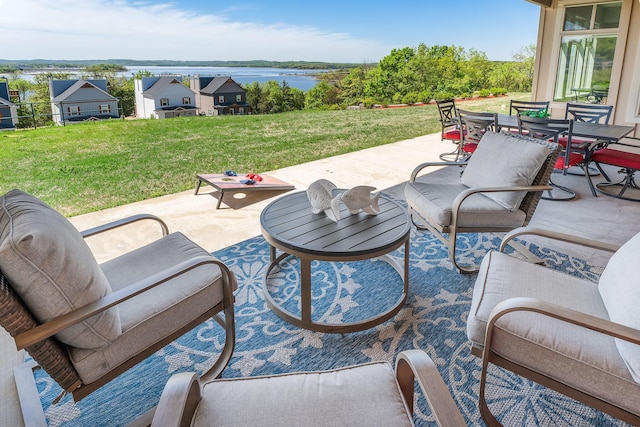
[[[438,368],[423,350],[406,350],[396,358],[396,378],[413,412],[414,381],[417,380],[439,426],[466,426],[466,422],[442,380]]]

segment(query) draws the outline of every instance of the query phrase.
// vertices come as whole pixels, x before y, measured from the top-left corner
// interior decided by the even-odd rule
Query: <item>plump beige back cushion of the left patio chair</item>
[[[40,321],[110,294],[111,287],[76,228],[41,200],[19,190],[0,199],[0,270]],[[121,333],[118,309],[58,333],[79,348],[99,348]]]

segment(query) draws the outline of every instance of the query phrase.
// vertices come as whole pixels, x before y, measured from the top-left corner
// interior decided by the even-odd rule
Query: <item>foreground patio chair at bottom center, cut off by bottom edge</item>
[[[331,371],[219,379],[169,379],[153,426],[412,426],[417,380],[439,426],[466,422],[436,365],[422,350],[401,352],[396,369],[371,362]]]

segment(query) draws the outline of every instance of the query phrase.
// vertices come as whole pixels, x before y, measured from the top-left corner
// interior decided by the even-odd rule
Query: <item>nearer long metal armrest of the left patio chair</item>
[[[160,271],[143,280],[132,283],[126,288],[115,291],[100,298],[97,301],[94,301],[69,313],[58,316],[55,319],[51,319],[48,322],[42,323],[41,325],[38,325],[33,329],[29,329],[19,335],[16,335],[14,337],[16,347],[18,348],[18,350],[22,350],[26,347],[29,347],[30,345],[36,344],[45,338],[49,338],[57,334],[58,332],[62,331],[65,328],[68,328],[69,326],[82,322],[83,320],[88,319],[91,316],[108,310],[109,308],[114,307],[123,301],[133,298],[134,296],[139,295],[149,289],[155,288],[156,286],[174,277],[177,277],[205,264],[215,264],[220,267],[220,270],[222,271],[224,286],[224,303],[225,305],[232,303],[233,289],[235,287],[236,280],[233,272],[231,272],[231,270],[229,270],[224,263],[213,257],[208,257],[205,255],[198,256],[175,265],[171,268]]]

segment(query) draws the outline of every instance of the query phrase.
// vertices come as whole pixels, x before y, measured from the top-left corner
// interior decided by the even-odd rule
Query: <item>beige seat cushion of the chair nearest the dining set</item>
[[[404,194],[409,206],[414,208],[431,224],[443,227],[451,225],[453,200],[467,190],[460,183],[408,182]],[[485,194],[474,194],[467,198],[458,215],[458,227],[486,227],[487,224],[505,227],[520,227],[526,214],[521,210],[509,211]]]

